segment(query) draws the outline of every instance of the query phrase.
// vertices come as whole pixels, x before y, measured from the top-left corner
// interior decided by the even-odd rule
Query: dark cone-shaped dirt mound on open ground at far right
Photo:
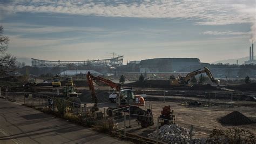
[[[219,122],[225,125],[238,126],[252,124],[253,121],[247,118],[244,114],[238,111],[234,111],[226,116],[222,117]]]

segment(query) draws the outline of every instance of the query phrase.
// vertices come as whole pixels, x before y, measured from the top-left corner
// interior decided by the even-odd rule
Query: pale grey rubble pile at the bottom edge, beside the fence
[[[147,135],[150,139],[157,139],[157,130]],[[168,143],[189,143],[190,131],[178,124],[164,125],[159,128],[158,139]]]

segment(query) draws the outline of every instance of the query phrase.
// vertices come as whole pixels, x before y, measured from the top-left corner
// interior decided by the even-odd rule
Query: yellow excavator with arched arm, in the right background
[[[207,68],[200,68],[196,71],[193,71],[191,73],[188,73],[186,77],[177,77],[177,78],[171,78],[171,86],[184,86],[184,85],[189,85],[189,82],[191,80],[192,77],[197,76],[200,73],[206,73],[207,76],[211,79],[211,81],[217,85],[220,84],[220,80],[219,79],[214,79],[214,77],[212,76],[211,71]]]

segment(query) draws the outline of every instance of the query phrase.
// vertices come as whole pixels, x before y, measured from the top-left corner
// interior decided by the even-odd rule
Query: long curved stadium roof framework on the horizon
[[[110,59],[98,59],[98,60],[83,60],[83,61],[54,61],[54,60],[41,60],[31,58],[31,63],[33,67],[65,67],[69,64],[74,64],[76,66],[110,66],[116,67],[123,65],[124,56],[118,56],[116,58]]]

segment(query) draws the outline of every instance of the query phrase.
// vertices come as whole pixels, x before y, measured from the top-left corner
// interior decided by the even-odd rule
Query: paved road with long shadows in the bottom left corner
[[[0,98],[0,143],[130,143]]]

